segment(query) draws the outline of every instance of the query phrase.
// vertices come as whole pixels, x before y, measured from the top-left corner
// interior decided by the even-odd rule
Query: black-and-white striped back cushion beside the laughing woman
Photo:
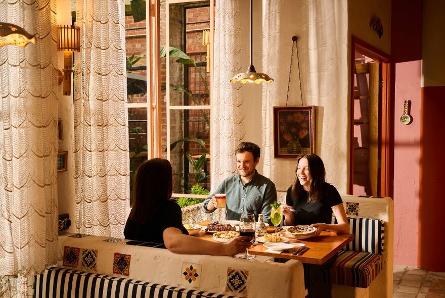
[[[385,222],[380,219],[348,217],[349,233],[354,234],[354,240],[344,247],[346,251],[373,254],[383,253]],[[332,223],[337,219],[332,217]]]

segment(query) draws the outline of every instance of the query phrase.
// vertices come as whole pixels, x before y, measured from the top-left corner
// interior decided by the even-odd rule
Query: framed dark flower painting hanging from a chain
[[[274,156],[314,153],[314,106],[274,107]]]

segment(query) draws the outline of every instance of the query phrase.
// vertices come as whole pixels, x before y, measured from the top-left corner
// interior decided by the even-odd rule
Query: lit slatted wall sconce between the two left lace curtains
[[[63,95],[71,95],[72,52],[80,52],[80,28],[57,26],[57,49],[63,51]]]

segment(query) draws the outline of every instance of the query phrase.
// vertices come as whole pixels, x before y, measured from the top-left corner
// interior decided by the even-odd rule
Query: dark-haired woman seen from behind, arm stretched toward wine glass
[[[169,251],[179,254],[233,256],[250,247],[250,237],[247,236],[226,243],[190,236],[182,224],[181,208],[170,200],[173,183],[168,160],[154,158],[139,166],[135,201],[125,225],[125,238],[164,243]]]

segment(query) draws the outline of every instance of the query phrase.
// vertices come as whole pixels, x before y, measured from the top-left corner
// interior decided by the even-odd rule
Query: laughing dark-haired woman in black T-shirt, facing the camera
[[[316,235],[323,230],[349,233],[349,224],[343,202],[337,189],[325,181],[325,166],[316,154],[298,158],[295,182],[287,190],[283,206],[286,225],[317,227]],[[295,211],[290,211],[291,207]],[[334,213],[337,224],[331,224]]]

